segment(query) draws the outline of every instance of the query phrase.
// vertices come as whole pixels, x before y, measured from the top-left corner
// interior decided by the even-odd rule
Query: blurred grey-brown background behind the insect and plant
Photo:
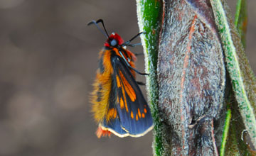
[[[234,13],[235,0],[230,6]],[[246,53],[256,71],[256,1],[248,6]],[[139,32],[135,0],[0,0],[1,156],[152,155],[151,133],[95,136],[89,95],[105,36],[87,22],[98,18],[124,40]]]

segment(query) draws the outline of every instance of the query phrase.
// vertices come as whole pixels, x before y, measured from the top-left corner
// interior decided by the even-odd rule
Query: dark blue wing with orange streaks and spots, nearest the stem
[[[117,113],[123,130],[130,136],[139,137],[151,130],[153,120],[129,67],[122,57],[112,56],[113,87],[117,91]]]

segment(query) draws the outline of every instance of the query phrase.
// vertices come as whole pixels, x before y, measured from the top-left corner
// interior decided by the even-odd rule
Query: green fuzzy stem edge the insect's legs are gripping
[[[148,101],[151,106],[151,114],[154,119],[154,155],[162,155],[164,145],[162,142],[161,129],[162,123],[159,118],[158,97],[159,88],[157,82],[157,57],[158,57],[158,40],[161,17],[161,1],[155,0],[137,0],[137,18],[140,32],[146,32],[141,35],[142,46],[144,48],[145,72],[149,73],[146,77],[146,90]]]

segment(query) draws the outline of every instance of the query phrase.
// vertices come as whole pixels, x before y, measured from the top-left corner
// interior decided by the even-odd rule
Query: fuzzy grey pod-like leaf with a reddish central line
[[[225,65],[208,0],[165,1],[159,39],[159,111],[171,155],[218,155]]]

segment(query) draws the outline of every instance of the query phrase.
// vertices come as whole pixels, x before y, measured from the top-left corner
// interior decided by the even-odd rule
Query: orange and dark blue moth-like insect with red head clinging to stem
[[[104,31],[98,23],[102,23]],[[135,80],[135,72],[146,75],[135,69],[136,55],[126,49],[131,40],[124,42],[117,33],[108,35],[102,19],[90,21],[107,37],[103,50],[100,51],[99,68],[97,69],[94,91],[92,92],[92,113],[99,124],[96,135],[110,136],[111,133],[121,138],[140,137],[153,128],[153,119],[149,105]]]

